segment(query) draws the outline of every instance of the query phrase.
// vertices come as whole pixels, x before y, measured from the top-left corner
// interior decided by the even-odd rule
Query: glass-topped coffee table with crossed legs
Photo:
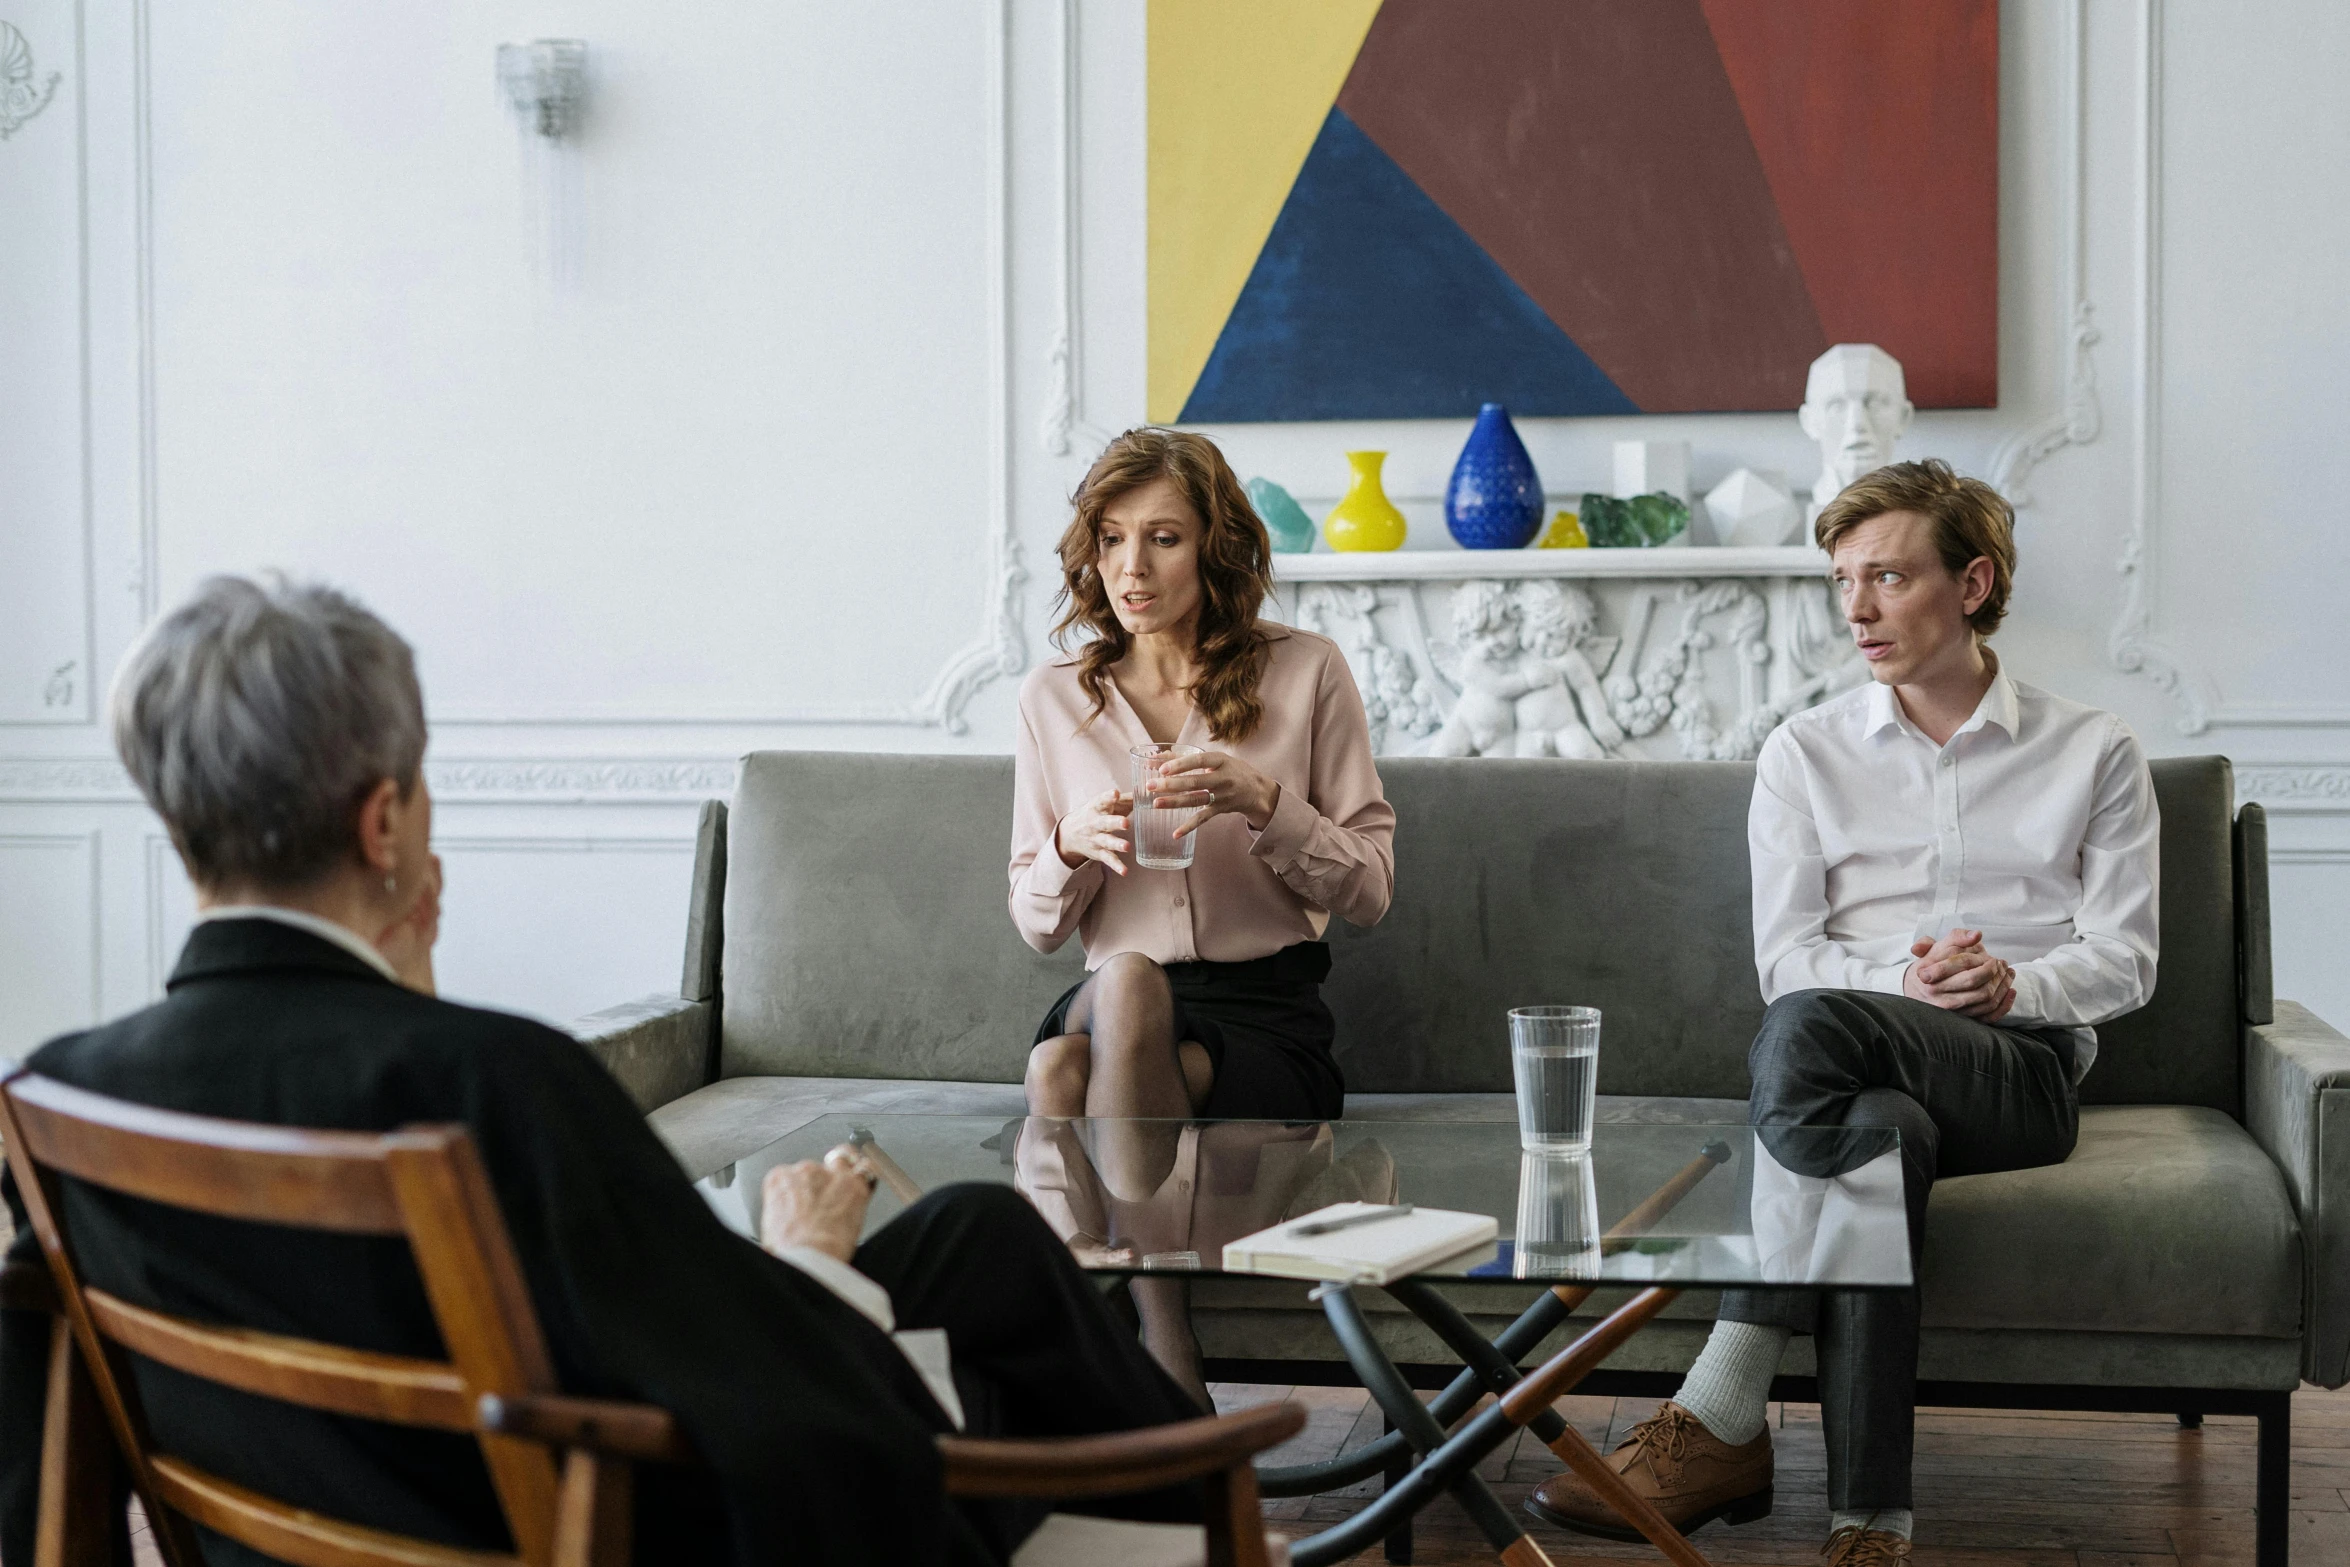
[[[884,1177],[867,1233],[952,1182],[1020,1189],[1093,1273],[1234,1278],[1224,1243],[1330,1203],[1412,1203],[1492,1215],[1499,1236],[1386,1283],[1295,1280],[1309,1292],[1389,1433],[1323,1464],[1257,1471],[1269,1497],[1389,1475],[1354,1518],[1290,1544],[1297,1567],[1344,1560],[1450,1494],[1509,1567],[1546,1562],[1476,1466],[1530,1428],[1586,1485],[1683,1567],[1687,1539],[1636,1497],[1556,1412],[1683,1290],[1911,1285],[1899,1137],[1885,1130],[1647,1125],[1603,1121],[1584,1156],[1523,1154],[1492,1121],[1050,1121],[999,1116],[820,1116],[700,1182],[733,1229],[757,1236],[773,1165],[865,1149]],[[1262,1273],[1253,1273],[1264,1278]],[[1455,1304],[1480,1285],[1549,1285],[1488,1339]],[[1438,1287],[1441,1285],[1441,1287]],[[1384,1290],[1462,1360],[1422,1403],[1363,1318]],[[1593,1290],[1633,1294],[1535,1367],[1520,1360]],[[1495,1403],[1469,1414],[1485,1395]],[[1466,1419],[1464,1419],[1466,1417]]]

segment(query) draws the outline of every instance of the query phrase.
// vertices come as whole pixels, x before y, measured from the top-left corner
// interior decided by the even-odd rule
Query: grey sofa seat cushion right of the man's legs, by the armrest
[[[1929,1327],[2301,1334],[2301,1224],[2251,1135],[2193,1104],[2080,1114],[2073,1158],[1934,1182]]]

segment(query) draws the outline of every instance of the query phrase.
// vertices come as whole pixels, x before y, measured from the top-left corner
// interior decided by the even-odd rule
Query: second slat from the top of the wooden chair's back
[[[251,1327],[207,1327],[89,1285],[82,1299],[103,1337],[204,1381],[360,1419],[475,1428],[465,1379],[446,1360],[378,1356]]]

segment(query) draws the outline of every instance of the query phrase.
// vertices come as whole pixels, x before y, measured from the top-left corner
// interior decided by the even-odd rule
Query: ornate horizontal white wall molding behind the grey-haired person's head
[[[517,756],[425,761],[425,782],[458,806],[667,806],[733,794],[726,756]],[[139,789],[110,756],[0,759],[5,806],[136,806]]]

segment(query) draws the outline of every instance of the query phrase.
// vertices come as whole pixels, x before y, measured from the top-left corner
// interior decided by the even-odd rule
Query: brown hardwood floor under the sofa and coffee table
[[[1267,1454],[1307,1464],[1379,1433],[1379,1412],[1361,1391],[1220,1384],[1217,1407],[1269,1398],[1307,1405],[1307,1428]],[[1654,1400],[1567,1398],[1558,1412],[1603,1452],[1654,1412]],[[1810,1565],[1826,1534],[1826,1452],[1817,1405],[1772,1405],[1779,1452],[1777,1511],[1753,1525],[1708,1525],[1692,1544],[1711,1560]],[[2167,1414],[2005,1414],[1922,1410],[1918,1414],[1915,1567],[2251,1567],[2254,1421],[2211,1414],[2181,1431]],[[1509,1508],[1560,1464],[1520,1435],[1478,1471]],[[1267,1515],[1292,1536],[1347,1518],[1377,1497],[1365,1480],[1340,1497],[1269,1501]],[[1528,1520],[1558,1562],[1657,1567],[1650,1546],[1622,1546]],[[2350,1562],[2350,1388],[2294,1398],[2294,1567]],[[1492,1562],[1485,1541],[1450,1501],[1419,1515],[1415,1562]],[[1384,1562],[1379,1548],[1351,1558]]]

